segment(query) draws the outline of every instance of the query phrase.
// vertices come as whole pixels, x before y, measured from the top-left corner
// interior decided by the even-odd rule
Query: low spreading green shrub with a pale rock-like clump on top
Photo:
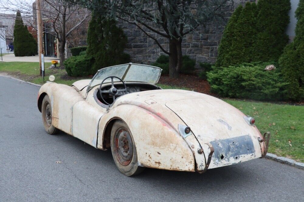
[[[278,69],[264,68],[274,62],[244,63],[238,66],[214,67],[207,73],[212,93],[222,97],[254,100],[281,100],[283,81]]]

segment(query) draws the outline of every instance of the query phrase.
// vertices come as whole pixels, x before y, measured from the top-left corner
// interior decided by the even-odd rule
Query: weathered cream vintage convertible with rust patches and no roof
[[[44,128],[111,148],[127,176],[144,167],[203,173],[265,156],[270,133],[261,136],[253,118],[209,95],[161,89],[161,71],[130,63],[72,86],[47,82],[37,98]]]

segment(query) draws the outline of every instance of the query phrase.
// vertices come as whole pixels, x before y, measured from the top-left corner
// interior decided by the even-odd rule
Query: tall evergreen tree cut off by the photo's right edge
[[[295,39],[288,44],[279,59],[279,67],[288,86],[285,97],[296,101],[304,99],[304,0],[299,1],[295,12],[298,20]]]

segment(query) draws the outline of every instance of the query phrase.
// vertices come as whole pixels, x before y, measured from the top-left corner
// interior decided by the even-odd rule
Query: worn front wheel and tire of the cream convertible
[[[50,113],[50,119],[48,118],[47,113]],[[51,135],[58,133],[58,129],[55,128],[52,124],[52,106],[48,95],[44,96],[42,100],[41,114],[45,131]]]

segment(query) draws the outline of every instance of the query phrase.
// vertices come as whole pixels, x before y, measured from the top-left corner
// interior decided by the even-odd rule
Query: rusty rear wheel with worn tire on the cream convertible
[[[138,166],[136,147],[127,124],[121,120],[113,124],[111,131],[111,151],[119,171],[126,176],[137,175],[144,170]]]

